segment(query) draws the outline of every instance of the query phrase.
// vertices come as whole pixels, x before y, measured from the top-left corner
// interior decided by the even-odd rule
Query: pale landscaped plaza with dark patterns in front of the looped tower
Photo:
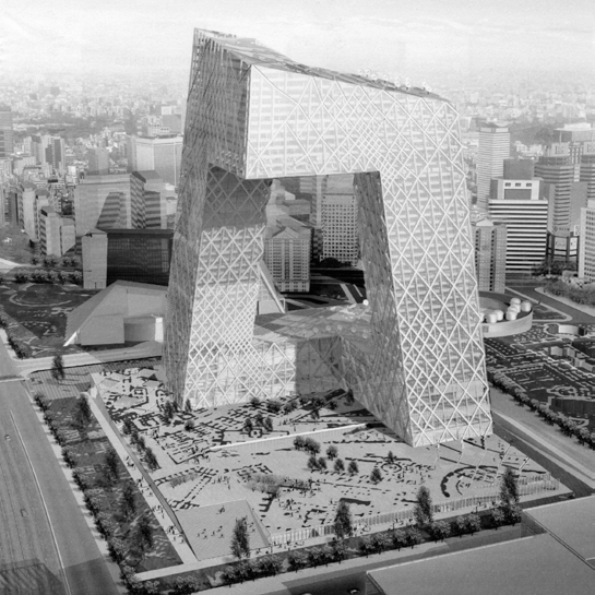
[[[331,536],[341,500],[350,504],[359,533],[407,524],[423,484],[444,515],[491,508],[507,466],[520,472],[523,499],[568,491],[495,436],[485,449],[479,440],[412,449],[343,391],[177,412],[168,423],[159,378],[151,368],[103,371],[92,374],[91,392],[126,440],[132,429],[155,454],[151,477],[198,559],[228,556],[241,516],[254,554]],[[319,444],[314,461],[325,469],[312,471],[309,447],[296,449],[297,437]]]

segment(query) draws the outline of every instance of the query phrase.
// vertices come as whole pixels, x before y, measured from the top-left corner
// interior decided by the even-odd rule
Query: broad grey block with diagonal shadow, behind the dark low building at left
[[[130,175],[87,176],[74,189],[76,236],[100,225],[131,227]]]

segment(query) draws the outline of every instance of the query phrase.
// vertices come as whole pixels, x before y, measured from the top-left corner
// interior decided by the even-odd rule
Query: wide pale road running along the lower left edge
[[[3,348],[0,345],[0,349]],[[53,576],[59,576],[57,560],[61,556],[72,595],[118,595],[106,560],[83,516],[85,511],[79,507],[20,380],[0,382],[0,412],[3,474],[0,478],[0,562],[38,558]],[[62,579],[61,583],[62,591],[48,593],[69,595],[67,581]]]

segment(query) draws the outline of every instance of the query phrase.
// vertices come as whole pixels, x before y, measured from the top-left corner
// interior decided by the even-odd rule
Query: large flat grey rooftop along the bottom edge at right
[[[547,533],[368,572],[384,595],[586,595],[595,574]]]

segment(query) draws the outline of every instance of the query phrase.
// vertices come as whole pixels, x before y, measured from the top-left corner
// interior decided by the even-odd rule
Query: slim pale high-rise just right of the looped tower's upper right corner
[[[504,159],[510,157],[510,132],[505,126],[486,124],[479,129],[477,153],[477,207],[488,211],[490,181],[504,171]]]

